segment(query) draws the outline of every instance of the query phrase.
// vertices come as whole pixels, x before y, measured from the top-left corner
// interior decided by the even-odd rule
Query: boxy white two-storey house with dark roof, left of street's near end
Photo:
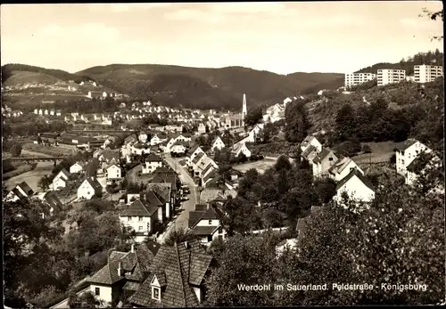
[[[136,232],[136,242],[142,242],[153,232],[153,224],[158,220],[159,208],[146,200],[136,199],[120,212],[120,222]]]

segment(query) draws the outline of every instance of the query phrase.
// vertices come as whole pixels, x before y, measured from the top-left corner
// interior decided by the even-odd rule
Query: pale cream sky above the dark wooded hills
[[[348,73],[442,52],[442,2],[3,4],[1,61],[77,72],[112,63]]]

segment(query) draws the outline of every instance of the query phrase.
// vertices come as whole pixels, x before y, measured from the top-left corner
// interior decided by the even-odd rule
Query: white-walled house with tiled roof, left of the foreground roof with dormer
[[[124,291],[131,295],[140,288],[159,248],[150,242],[132,245],[129,252],[111,251],[107,264],[87,279],[89,291],[96,299],[116,306]]]

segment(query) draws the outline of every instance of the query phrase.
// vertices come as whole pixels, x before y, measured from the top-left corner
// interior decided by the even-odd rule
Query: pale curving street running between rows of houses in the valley
[[[197,201],[196,185],[195,185],[192,177],[187,173],[186,169],[181,167],[181,165],[178,163],[178,161],[180,161],[181,158],[174,159],[174,158],[171,158],[169,154],[166,154],[164,156],[164,160],[166,161],[167,164],[169,164],[169,167],[172,167],[173,170],[176,170],[178,172],[179,179],[181,180],[182,183],[187,184],[187,186],[189,187],[189,190],[191,192],[189,195],[187,195],[187,197],[189,199],[187,199],[186,201],[181,203],[180,214],[177,215],[177,218],[174,219],[174,221],[172,223],[170,223],[167,231],[161,235],[161,238],[160,238],[161,242],[163,242],[163,240],[169,236],[169,233],[173,231],[172,227],[174,227],[177,230],[180,228],[184,228],[184,229],[187,228],[188,221],[189,221],[189,211],[194,211],[195,203]]]

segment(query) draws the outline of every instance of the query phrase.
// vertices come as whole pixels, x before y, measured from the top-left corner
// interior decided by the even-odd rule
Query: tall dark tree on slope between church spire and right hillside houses
[[[285,139],[301,142],[308,134],[311,124],[303,102],[290,102],[285,108]]]

